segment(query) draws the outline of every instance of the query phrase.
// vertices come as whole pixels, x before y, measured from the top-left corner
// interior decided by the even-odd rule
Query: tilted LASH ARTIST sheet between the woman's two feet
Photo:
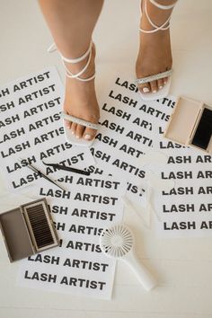
[[[103,87],[103,89],[102,89]],[[99,84],[100,128],[91,148],[93,157],[104,172],[128,181],[128,199],[146,205],[146,167],[142,156],[152,151],[155,126],[167,121],[166,109],[172,98],[145,102],[133,79],[112,72]]]

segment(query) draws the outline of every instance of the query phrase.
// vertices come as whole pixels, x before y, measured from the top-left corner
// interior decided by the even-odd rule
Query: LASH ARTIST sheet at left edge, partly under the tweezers
[[[11,190],[40,179],[28,163],[46,174],[51,172],[44,163],[81,169],[94,163],[89,149],[66,142],[60,119],[64,88],[55,67],[15,80],[0,92],[0,163]]]

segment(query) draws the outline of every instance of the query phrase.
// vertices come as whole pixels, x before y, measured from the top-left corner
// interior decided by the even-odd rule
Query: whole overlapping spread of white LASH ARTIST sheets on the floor
[[[148,218],[146,184],[152,173],[160,184],[151,197],[155,233],[211,235],[211,156],[163,138],[175,98],[143,102],[133,79],[112,74],[100,94],[93,146],[72,146],[59,115],[63,92],[55,68],[0,89],[0,162],[8,189],[30,186],[33,198],[46,197],[60,237],[59,247],[21,261],[18,283],[110,298],[115,261],[102,255],[99,237],[104,227],[122,220],[123,197],[140,211],[141,222]],[[163,154],[163,163],[157,156],[144,163],[153,150]],[[86,168],[91,175],[56,171],[42,162]],[[27,163],[65,191],[31,172]],[[171,189],[165,181],[172,181]]]

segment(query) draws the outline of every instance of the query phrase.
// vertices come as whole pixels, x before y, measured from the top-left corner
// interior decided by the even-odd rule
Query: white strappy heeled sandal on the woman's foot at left
[[[88,82],[88,81],[91,81],[93,80],[93,78],[95,77],[95,73],[90,76],[90,77],[87,77],[87,78],[82,78],[80,77],[80,75],[82,75],[84,73],[84,71],[87,69],[87,67],[89,66],[90,64],[90,61],[91,61],[91,58],[92,58],[92,47],[93,47],[93,42],[91,41],[90,45],[89,45],[89,48],[86,50],[86,52],[84,53],[84,55],[82,57],[78,57],[78,58],[67,58],[67,57],[64,57],[59,51],[59,55],[62,59],[62,62],[63,62],[63,65],[65,67],[65,70],[66,70],[66,76],[69,77],[69,78],[75,78],[76,80],[78,81],[82,81],[82,82]],[[55,45],[55,43],[53,43],[48,51],[49,52],[52,52],[54,50],[56,50],[57,47]],[[86,57],[88,57],[88,60],[85,64],[85,66],[83,67],[82,70],[80,70],[78,73],[76,74],[73,74],[69,71],[69,69],[67,69],[66,67],[66,63],[70,63],[70,64],[75,64],[75,63],[78,63],[78,62],[81,62],[83,61]],[[98,124],[93,124],[92,122],[90,121],[86,121],[84,119],[79,119],[75,116],[71,116],[71,115],[68,115],[66,114],[64,111],[61,112],[61,116],[60,116],[62,119],[66,119],[66,120],[70,120],[71,122],[75,122],[76,124],[79,124],[79,125],[82,125],[84,127],[88,127],[88,128],[92,128],[92,129],[95,129],[97,130],[99,128],[99,125]],[[65,136],[66,136],[66,141],[72,145],[75,145],[75,146],[92,146],[93,144],[93,141],[94,141],[94,138],[92,140],[86,140],[84,138],[77,138],[75,137],[75,135],[72,134],[71,132],[71,129],[68,129],[66,128],[66,126],[64,125],[64,130],[65,130]]]

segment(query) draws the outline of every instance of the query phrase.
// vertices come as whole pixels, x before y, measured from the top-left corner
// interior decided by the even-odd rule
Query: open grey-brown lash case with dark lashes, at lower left
[[[38,199],[0,214],[0,227],[11,262],[59,243],[46,199]]]

